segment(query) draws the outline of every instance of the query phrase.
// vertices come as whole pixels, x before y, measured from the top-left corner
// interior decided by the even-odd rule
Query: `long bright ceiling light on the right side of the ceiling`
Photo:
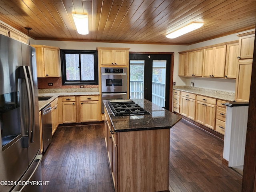
[[[191,31],[194,31],[200,27],[202,27],[204,25],[204,23],[190,23],[174,32],[171,32],[169,34],[166,35],[167,38],[170,38],[170,39],[174,39],[176,37],[179,37],[179,36],[182,36],[186,33],[189,33]]]

